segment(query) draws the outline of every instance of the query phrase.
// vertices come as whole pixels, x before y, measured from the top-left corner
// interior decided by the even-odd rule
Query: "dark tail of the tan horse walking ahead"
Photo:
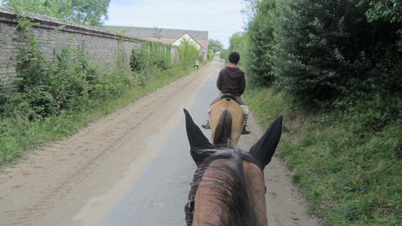
[[[219,116],[218,124],[213,133],[215,145],[229,145],[230,135],[232,134],[232,111],[224,109]]]

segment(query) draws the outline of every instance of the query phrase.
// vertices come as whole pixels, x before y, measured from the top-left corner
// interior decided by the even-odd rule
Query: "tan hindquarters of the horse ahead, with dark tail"
[[[236,147],[244,126],[243,109],[236,97],[225,94],[216,102],[209,113],[212,144],[228,144]]]

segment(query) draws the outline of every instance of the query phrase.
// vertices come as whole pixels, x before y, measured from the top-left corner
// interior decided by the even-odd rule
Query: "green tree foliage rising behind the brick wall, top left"
[[[98,26],[108,19],[110,0],[2,0],[18,11],[35,12],[78,23]]]

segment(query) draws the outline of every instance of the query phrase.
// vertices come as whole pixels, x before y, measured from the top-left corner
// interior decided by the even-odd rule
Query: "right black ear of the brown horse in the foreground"
[[[282,115],[279,116],[271,125],[269,125],[267,131],[251,148],[250,154],[252,154],[256,160],[258,160],[265,168],[269,162],[271,162],[272,156],[275,153],[275,149],[278,146],[279,139],[282,134]]]

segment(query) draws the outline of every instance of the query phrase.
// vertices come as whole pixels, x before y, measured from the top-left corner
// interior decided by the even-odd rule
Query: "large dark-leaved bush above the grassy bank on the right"
[[[274,61],[279,85],[303,102],[395,92],[401,53],[390,23],[368,23],[358,0],[289,2],[278,8]],[[392,63],[391,63],[392,62]]]

